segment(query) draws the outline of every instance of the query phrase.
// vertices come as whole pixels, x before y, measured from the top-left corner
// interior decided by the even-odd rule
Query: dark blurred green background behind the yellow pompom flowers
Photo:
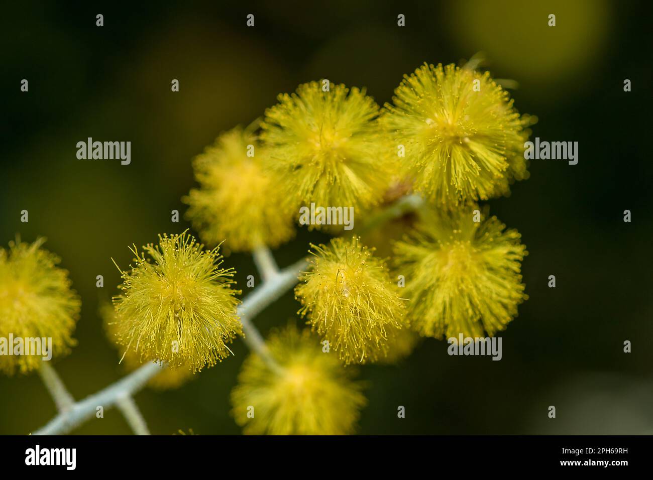
[[[114,1],[70,7],[3,6],[0,242],[46,236],[82,296],[69,357],[54,362],[76,398],[122,374],[98,304],[116,293],[127,246],[180,232],[170,211],[193,187],[191,158],[218,133],[247,124],[276,95],[328,78],[390,101],[424,61],[485,52],[496,78],[517,80],[534,135],[579,142],[579,163],[532,161],[531,178],[489,202],[530,255],[519,316],[503,332],[503,360],[449,357],[428,339],[395,366],[364,366],[370,383],[362,434],[645,434],[653,432],[650,193],[650,25],[646,3],[336,0],[218,6]],[[104,27],[95,15],[104,15]],[[255,14],[255,27],[246,15]],[[547,16],[556,14],[556,27]],[[398,27],[397,15],[406,15]],[[20,80],[29,80],[29,93]],[[180,80],[180,92],[170,81]],[[632,91],[623,90],[624,79]],[[76,142],[131,140],[132,161],[80,161]],[[261,199],[264,201],[264,199]],[[20,211],[29,223],[20,223]],[[624,210],[632,222],[624,223]],[[276,252],[306,252],[299,232]],[[240,287],[247,255],[226,261]],[[104,276],[104,288],[95,276]],[[547,278],[556,276],[549,289]],[[258,276],[257,276],[258,278]],[[255,322],[266,334],[298,308],[288,293]],[[633,352],[623,353],[624,340]],[[239,434],[229,391],[247,355],[203,370],[182,388],[136,395],[154,434],[193,428]],[[406,418],[398,419],[398,406]],[[557,418],[547,417],[556,406]],[[28,434],[55,408],[39,377],[0,377],[0,434]],[[116,410],[74,433],[129,434]]]

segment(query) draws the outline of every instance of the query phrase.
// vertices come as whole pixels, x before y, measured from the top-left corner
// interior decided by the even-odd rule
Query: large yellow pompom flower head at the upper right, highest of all
[[[424,64],[392,100],[381,118],[389,150],[404,146],[415,189],[439,206],[505,195],[528,178],[524,142],[535,119],[520,116],[487,72]]]

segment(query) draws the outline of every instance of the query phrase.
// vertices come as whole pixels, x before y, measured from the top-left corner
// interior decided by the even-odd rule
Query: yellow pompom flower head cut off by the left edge
[[[8,250],[0,248],[0,371],[8,375],[39,368],[48,339],[55,357],[69,353],[75,344],[72,332],[79,318],[80,298],[71,290],[68,272],[57,266],[59,257],[40,248],[44,241],[10,242]],[[18,338],[22,351],[8,355],[9,349],[16,353]],[[37,338],[43,355],[28,354],[27,342]]]

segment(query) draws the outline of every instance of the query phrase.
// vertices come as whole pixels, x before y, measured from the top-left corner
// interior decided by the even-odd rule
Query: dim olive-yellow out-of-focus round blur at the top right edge
[[[467,0],[447,8],[443,25],[456,50],[483,45],[493,68],[526,87],[520,97],[558,104],[575,95],[564,86],[592,76],[605,62],[619,7],[609,0]]]

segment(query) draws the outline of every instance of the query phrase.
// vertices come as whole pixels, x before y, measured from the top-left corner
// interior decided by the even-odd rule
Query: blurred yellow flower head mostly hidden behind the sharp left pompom
[[[104,321],[104,330],[106,336],[112,341],[114,345],[119,344],[116,342],[116,331],[118,330],[118,321],[116,321],[116,309],[110,304],[102,304],[100,306],[100,315]],[[142,366],[140,357],[133,350],[120,349],[121,363],[125,366],[127,372],[133,372],[138,367]],[[193,370],[188,366],[182,365],[174,368],[171,366],[161,365],[161,373],[156,374],[148,381],[148,387],[155,390],[169,390],[181,387],[186,381],[193,378]]]

